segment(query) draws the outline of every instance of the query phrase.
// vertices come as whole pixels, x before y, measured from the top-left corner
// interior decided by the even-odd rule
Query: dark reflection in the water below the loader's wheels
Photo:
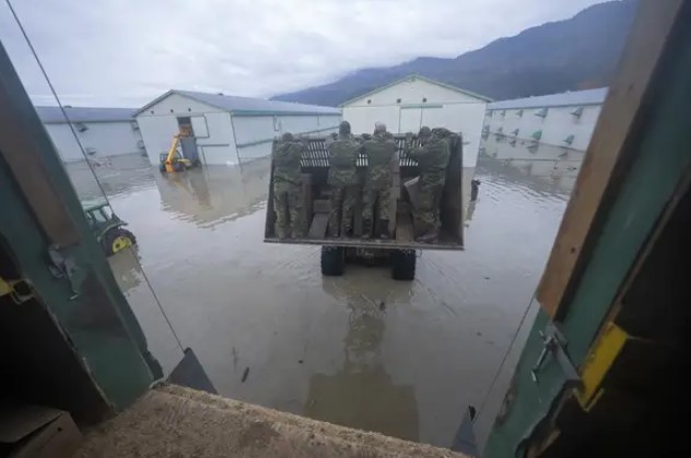
[[[336,374],[309,379],[306,416],[344,426],[376,431],[409,441],[419,439],[414,387],[396,384],[384,365],[386,307],[408,300],[410,285],[373,294],[347,280],[325,278],[323,289],[348,307],[343,365]],[[398,297],[397,297],[398,296]],[[387,305],[388,304],[388,305]]]

